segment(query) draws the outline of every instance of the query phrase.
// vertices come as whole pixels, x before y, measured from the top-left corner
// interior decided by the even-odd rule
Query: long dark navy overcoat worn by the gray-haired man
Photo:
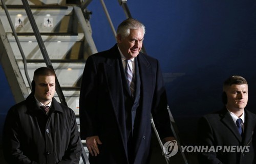
[[[139,106],[133,127],[134,163],[143,164],[151,145],[151,113],[161,138],[172,136],[167,99],[159,62],[139,53]],[[98,135],[100,154],[91,163],[128,163],[126,112],[133,113],[129,88],[117,44],[93,54],[84,68],[80,92],[79,116],[81,138]],[[137,81],[137,80],[136,80]],[[137,84],[136,84],[137,85]],[[136,99],[136,98],[135,98]],[[131,107],[131,108],[129,108]],[[128,108],[128,109],[127,109]]]

